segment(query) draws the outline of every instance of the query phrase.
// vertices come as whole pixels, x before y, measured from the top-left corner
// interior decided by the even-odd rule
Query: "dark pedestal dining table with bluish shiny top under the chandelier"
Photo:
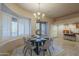
[[[40,47],[45,44],[46,40],[47,39],[41,38],[41,37],[40,38],[34,38],[33,40],[30,40],[32,46],[35,46],[34,51],[37,55],[40,55],[40,51],[41,51]]]

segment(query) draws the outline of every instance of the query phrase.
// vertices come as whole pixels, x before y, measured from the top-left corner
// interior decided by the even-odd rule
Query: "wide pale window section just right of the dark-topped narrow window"
[[[19,35],[29,35],[30,34],[30,20],[20,19],[19,20]]]

